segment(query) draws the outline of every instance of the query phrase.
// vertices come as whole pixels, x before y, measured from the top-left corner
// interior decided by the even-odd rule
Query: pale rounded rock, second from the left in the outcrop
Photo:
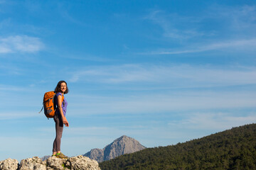
[[[46,165],[43,164],[42,159],[33,157],[22,159],[21,164],[18,166],[19,170],[46,170]]]

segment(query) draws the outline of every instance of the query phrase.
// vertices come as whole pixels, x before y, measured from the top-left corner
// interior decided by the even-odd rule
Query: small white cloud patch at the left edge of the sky
[[[39,38],[29,37],[27,35],[0,38],[0,53],[38,52],[43,47],[43,42]]]

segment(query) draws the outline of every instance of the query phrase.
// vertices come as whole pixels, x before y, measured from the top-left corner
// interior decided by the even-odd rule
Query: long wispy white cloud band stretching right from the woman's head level
[[[233,86],[255,84],[255,67],[209,67],[181,65],[124,64],[88,67],[71,74],[70,81],[100,82],[102,84],[163,83],[169,88],[199,86]],[[149,86],[149,84],[148,84]]]

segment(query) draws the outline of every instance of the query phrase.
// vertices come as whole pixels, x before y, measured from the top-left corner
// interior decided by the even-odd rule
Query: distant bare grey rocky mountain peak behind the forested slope
[[[110,159],[114,159],[115,157],[119,157],[122,154],[131,154],[142,149],[146,149],[146,147],[141,145],[132,137],[123,135],[103,149],[91,149],[90,152],[87,152],[83,156],[94,159],[97,162],[104,162]]]

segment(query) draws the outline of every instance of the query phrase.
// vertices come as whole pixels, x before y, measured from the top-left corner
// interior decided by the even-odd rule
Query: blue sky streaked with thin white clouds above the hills
[[[68,156],[255,123],[255,30],[256,1],[0,0],[0,160],[51,154],[38,111],[59,80]]]

